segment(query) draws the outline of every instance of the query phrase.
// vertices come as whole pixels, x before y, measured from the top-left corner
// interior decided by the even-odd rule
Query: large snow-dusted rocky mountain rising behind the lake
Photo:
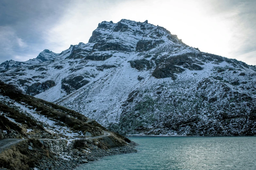
[[[256,67],[148,21],[103,21],[87,44],[2,63],[0,79],[120,134],[256,135]]]

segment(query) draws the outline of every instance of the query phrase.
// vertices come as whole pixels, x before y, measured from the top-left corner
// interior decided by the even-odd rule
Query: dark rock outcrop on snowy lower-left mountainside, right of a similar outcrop
[[[89,80],[84,79],[83,76],[76,76],[76,77],[67,77],[61,80],[61,89],[63,89],[67,94],[83,87]]]

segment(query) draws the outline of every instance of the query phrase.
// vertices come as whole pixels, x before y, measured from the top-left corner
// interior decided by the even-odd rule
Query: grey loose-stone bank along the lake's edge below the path
[[[45,157],[40,160],[36,168],[38,170],[74,170],[77,166],[96,161],[100,157],[137,152],[135,149],[137,145],[137,143],[131,141],[126,146],[110,149],[100,149],[93,144],[88,144],[88,150],[66,148],[61,154],[55,154],[51,158]]]

